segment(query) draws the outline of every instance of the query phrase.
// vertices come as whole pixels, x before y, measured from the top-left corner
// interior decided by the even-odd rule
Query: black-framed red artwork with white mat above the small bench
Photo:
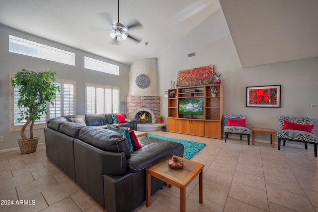
[[[246,106],[280,107],[280,85],[246,87]]]

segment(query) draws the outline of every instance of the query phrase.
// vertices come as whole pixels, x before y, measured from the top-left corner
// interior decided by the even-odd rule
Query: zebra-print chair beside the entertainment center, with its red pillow
[[[245,125],[246,115],[224,114],[223,118],[225,142],[227,142],[229,134],[239,134],[240,139],[242,139],[242,135],[247,135],[247,144],[249,145],[250,129]]]

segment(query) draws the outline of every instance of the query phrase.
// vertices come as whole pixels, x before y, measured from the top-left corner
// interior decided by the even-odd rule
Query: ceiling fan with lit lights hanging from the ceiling
[[[122,40],[126,40],[127,38],[130,38],[136,41],[137,43],[142,41],[141,39],[133,37],[128,34],[128,30],[133,27],[143,27],[143,25],[138,20],[135,19],[130,25],[127,25],[127,26],[119,22],[119,0],[118,0],[118,21],[117,22],[112,21],[107,12],[101,12],[101,13],[98,13],[98,15],[102,16],[104,19],[110,22],[111,33],[109,35],[111,38],[114,39],[115,44],[118,44],[118,42],[121,42]]]

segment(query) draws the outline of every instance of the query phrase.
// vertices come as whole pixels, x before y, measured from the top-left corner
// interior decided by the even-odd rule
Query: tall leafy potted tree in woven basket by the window
[[[46,104],[53,105],[56,98],[56,91],[60,87],[52,82],[55,81],[56,73],[52,70],[34,72],[21,69],[11,81],[13,87],[17,87],[20,98],[17,106],[21,110],[17,121],[25,120],[20,130],[22,139],[18,140],[21,154],[28,154],[36,151],[38,137],[33,137],[34,121],[39,120],[42,114],[46,114]],[[25,136],[25,129],[30,124],[30,138]]]

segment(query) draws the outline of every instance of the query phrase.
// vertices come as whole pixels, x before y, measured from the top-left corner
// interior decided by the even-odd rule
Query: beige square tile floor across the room
[[[188,212],[318,212],[318,158],[311,147],[282,146],[279,151],[269,143],[248,146],[231,135],[225,143],[224,139],[151,133],[207,144],[191,159],[205,165],[204,202],[198,202],[196,178],[186,189]],[[0,200],[0,212],[104,211],[46,157],[44,144],[27,155],[0,153]],[[25,201],[18,205],[17,200]],[[150,208],[143,203],[134,210],[157,211],[178,212],[179,190],[165,187],[151,197]]]

